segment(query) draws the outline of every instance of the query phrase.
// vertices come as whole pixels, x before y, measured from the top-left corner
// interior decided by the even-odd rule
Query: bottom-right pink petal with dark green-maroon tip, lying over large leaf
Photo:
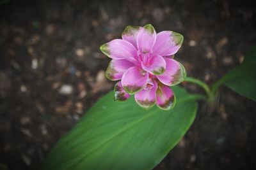
[[[175,94],[170,87],[158,83],[156,91],[156,105],[162,110],[170,110],[175,105]]]

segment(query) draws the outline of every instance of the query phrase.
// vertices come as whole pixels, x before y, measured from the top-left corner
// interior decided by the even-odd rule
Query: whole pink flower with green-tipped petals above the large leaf
[[[186,78],[182,64],[172,59],[179,50],[183,36],[173,31],[156,34],[154,27],[127,26],[122,39],[113,39],[100,46],[112,60],[106,71],[109,80],[120,80],[115,85],[115,100],[125,101],[135,94],[142,108],[156,105],[170,110],[175,105],[175,94],[168,86]]]

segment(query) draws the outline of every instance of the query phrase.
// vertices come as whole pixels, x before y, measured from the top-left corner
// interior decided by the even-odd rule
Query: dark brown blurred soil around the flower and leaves
[[[253,1],[0,1],[0,169],[39,169],[65,132],[113,89],[99,46],[127,25],[184,35],[189,76],[218,80],[256,43]],[[183,83],[190,92],[202,92]],[[255,103],[223,87],[156,167],[256,169]]]

